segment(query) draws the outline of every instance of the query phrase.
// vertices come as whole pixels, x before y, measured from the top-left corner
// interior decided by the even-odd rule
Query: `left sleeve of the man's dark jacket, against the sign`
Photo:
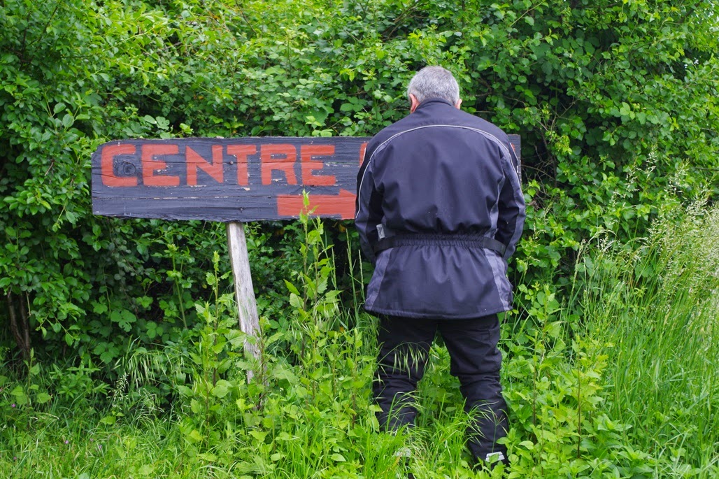
[[[370,148],[367,148],[367,153]],[[375,187],[372,170],[372,156],[365,156],[357,175],[357,201],[354,207],[354,226],[359,232],[359,245],[362,252],[375,264],[375,252],[372,246],[379,240],[377,225],[382,222],[382,194]]]

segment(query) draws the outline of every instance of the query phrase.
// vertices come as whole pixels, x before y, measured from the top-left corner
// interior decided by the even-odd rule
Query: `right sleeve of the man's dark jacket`
[[[502,159],[505,181],[499,196],[499,214],[495,239],[507,245],[504,259],[508,260],[517,247],[524,227],[525,204],[518,175],[519,160],[512,145],[508,145],[509,158]]]

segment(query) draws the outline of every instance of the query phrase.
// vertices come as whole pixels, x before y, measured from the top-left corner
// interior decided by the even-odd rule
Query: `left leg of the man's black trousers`
[[[372,385],[380,427],[395,430],[413,426],[417,410],[413,396],[424,375],[429,348],[434,341],[437,321],[396,316],[380,318],[377,342],[377,375]]]

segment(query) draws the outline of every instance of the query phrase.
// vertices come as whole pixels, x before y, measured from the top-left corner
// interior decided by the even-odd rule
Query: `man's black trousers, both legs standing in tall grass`
[[[499,321],[496,314],[477,319],[380,318],[377,378],[373,384],[377,413],[383,429],[413,426],[417,414],[413,396],[429,359],[429,348],[439,331],[451,358],[449,372],[459,379],[464,409],[474,425],[467,432],[472,455],[485,460],[506,448],[496,440],[508,428],[506,403],[499,371],[502,354],[497,349]]]

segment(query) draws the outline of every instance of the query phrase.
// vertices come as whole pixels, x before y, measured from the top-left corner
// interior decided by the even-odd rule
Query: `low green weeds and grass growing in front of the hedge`
[[[133,348],[117,380],[86,357],[0,375],[6,478],[713,478],[719,210],[668,215],[634,247],[587,246],[569,292],[518,286],[500,348],[510,466],[472,470],[441,344],[416,428],[385,434],[371,384],[375,319],[342,304],[323,224],[303,218],[283,316],[244,354],[215,255],[200,324]],[[350,258],[352,261],[352,258]],[[255,371],[247,381],[247,370]],[[406,458],[404,452],[409,452]]]

